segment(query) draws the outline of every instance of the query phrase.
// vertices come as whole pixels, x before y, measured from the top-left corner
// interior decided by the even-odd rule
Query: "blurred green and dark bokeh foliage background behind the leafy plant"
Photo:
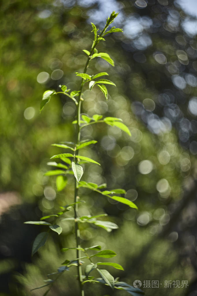
[[[50,145],[75,139],[75,104],[53,96],[41,115],[39,105],[47,89],[79,88],[75,72],[83,71],[82,49],[91,46],[90,22],[101,29],[113,10],[124,33],[107,35],[98,50],[115,67],[97,59],[87,73],[106,71],[117,87],[108,87],[108,102],[97,89],[84,89],[82,112],[122,118],[132,137],[102,124],[84,128],[82,139],[98,143],[82,153],[101,167],[86,165],[83,180],[124,188],[139,210],[81,190],[80,215],[105,212],[119,225],[107,233],[82,224],[82,245],[117,252],[115,262],[125,270],[109,271],[131,285],[141,280],[146,295],[196,295],[196,1],[2,0],[0,7],[0,295],[43,295],[46,288],[30,289],[74,256],[60,252],[74,245],[73,223],[61,222],[63,235],[52,234],[33,258],[32,242],[44,228],[23,224],[73,200],[72,177],[57,193],[55,177],[43,174],[51,155],[60,153]],[[147,286],[154,280],[159,288]],[[165,288],[165,281],[188,286]],[[48,295],[77,291],[68,272]],[[92,294],[128,295],[87,284],[86,295]]]

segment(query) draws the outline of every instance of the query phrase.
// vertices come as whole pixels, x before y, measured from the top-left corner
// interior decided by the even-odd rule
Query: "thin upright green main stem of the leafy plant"
[[[90,54],[89,54],[89,56],[87,58],[87,62],[85,64],[83,73],[86,73],[87,72],[87,69],[88,69],[88,66],[89,66],[89,62],[91,60],[92,52],[94,51],[96,45],[99,42],[98,38],[101,37],[103,33],[105,33],[105,30],[107,29],[108,25],[109,25],[109,22],[106,23],[105,28],[102,30],[102,32],[100,33],[100,35],[97,37],[96,41],[93,41],[92,47],[91,47],[91,51],[90,51]],[[83,99],[81,97],[83,86],[84,86],[84,79],[82,78],[81,86],[80,86],[80,90],[79,90],[79,99],[78,99],[78,102],[76,104],[77,105],[76,145],[79,144],[80,137],[81,137],[81,134],[80,134],[80,120],[81,120],[81,104],[82,104],[82,101],[83,101]],[[75,147],[76,147],[76,145],[75,145]],[[77,160],[75,159],[75,157],[74,157],[74,161],[77,162]],[[78,196],[77,196],[78,188],[77,188],[76,179],[75,179],[74,186],[75,186],[74,202],[77,202],[78,201],[77,200],[78,199]],[[74,206],[75,239],[76,239],[76,247],[77,248],[80,248],[80,230],[79,230],[79,224],[78,224],[78,219],[77,219],[78,218],[78,216],[77,216],[77,210],[78,210],[78,204],[75,204],[75,206]],[[76,250],[76,256],[77,256],[77,258],[80,258],[80,256],[81,256],[81,250]],[[83,282],[83,279],[82,279],[82,267],[80,265],[79,260],[78,260],[78,265],[77,265],[77,271],[78,271],[78,280],[79,280],[79,287],[80,287],[81,296],[84,296],[84,288],[83,288],[83,285],[82,285],[82,282]]]

